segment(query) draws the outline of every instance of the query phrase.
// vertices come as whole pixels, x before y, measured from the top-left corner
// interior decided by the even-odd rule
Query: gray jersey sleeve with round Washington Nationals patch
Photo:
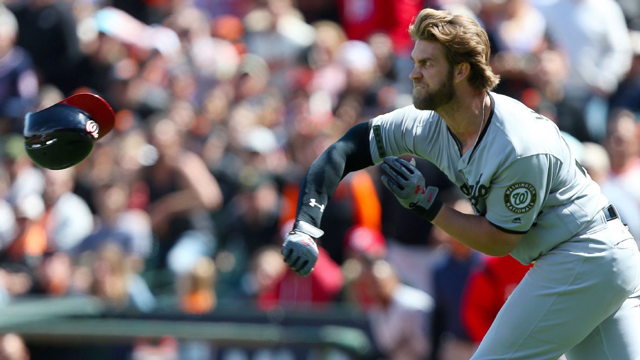
[[[547,154],[512,161],[492,180],[486,199],[486,219],[507,233],[527,233],[549,192],[555,162]]]

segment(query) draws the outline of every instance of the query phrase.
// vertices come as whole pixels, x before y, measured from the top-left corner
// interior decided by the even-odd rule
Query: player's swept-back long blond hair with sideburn
[[[409,34],[413,41],[440,42],[451,65],[468,63],[468,81],[473,88],[487,91],[500,82],[500,76],[489,66],[491,49],[486,31],[471,17],[423,9],[409,26]]]

